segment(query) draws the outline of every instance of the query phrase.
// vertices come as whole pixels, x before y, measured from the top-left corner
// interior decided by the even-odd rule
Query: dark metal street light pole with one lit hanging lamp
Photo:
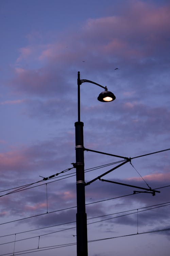
[[[107,87],[92,82],[90,80],[81,80],[78,72],[78,122],[75,122],[75,155],[76,155],[76,186],[77,186],[77,256],[87,256],[87,215],[85,210],[85,180],[84,180],[84,144],[83,144],[83,122],[80,122],[80,85],[84,82],[96,84],[104,91],[99,94],[98,100],[110,102],[116,99]]]

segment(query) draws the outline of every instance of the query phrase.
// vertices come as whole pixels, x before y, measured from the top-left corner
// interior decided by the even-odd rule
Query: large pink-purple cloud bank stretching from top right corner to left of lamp
[[[34,66],[35,61],[37,67],[47,66],[37,70],[16,68],[16,76],[10,83],[12,88],[31,94],[53,94],[58,84],[62,84],[60,90],[66,85],[61,71],[80,66],[84,57],[89,68],[95,64],[99,70],[103,63],[111,66],[111,62],[103,61],[105,59],[112,62],[123,60],[125,63],[154,58],[154,54],[166,54],[169,49],[170,7],[160,8],[141,1],[127,2],[115,16],[88,19],[79,33],[71,31],[51,44],[37,43],[21,48],[18,62],[30,57]],[[97,61],[98,57],[101,62]],[[67,90],[70,88],[68,84],[66,87]]]

